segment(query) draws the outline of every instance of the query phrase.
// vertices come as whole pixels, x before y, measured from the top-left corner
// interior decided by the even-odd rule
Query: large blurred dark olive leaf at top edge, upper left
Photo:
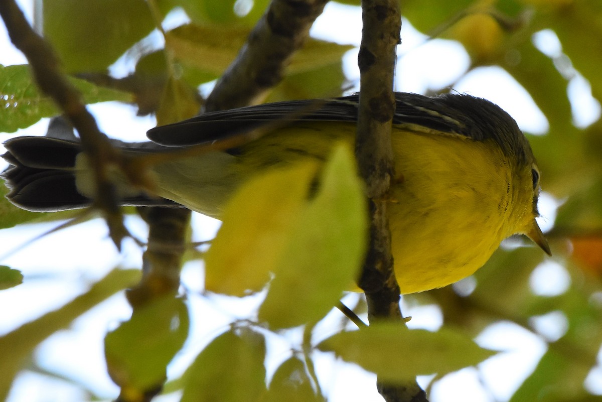
[[[44,0],[44,35],[67,72],[104,72],[155,23],[144,0]]]

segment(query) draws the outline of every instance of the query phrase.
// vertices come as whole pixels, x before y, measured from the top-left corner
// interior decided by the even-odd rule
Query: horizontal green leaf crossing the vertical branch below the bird
[[[403,323],[381,322],[358,331],[341,332],[318,345],[347,362],[357,363],[388,382],[415,376],[451,373],[495,354],[450,329],[409,330]]]

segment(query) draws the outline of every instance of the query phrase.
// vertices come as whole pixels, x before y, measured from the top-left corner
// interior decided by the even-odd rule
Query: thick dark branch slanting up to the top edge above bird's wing
[[[282,80],[291,56],[303,46],[328,0],[273,0],[236,60],[217,81],[205,111],[261,102]]]

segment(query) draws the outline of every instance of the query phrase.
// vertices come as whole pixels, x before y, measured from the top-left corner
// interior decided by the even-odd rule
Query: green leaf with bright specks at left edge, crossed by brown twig
[[[70,81],[81,92],[86,104],[120,100],[130,102],[131,95],[122,91],[97,87],[83,79]],[[40,93],[29,66],[0,66],[0,132],[14,132],[33,125],[43,117],[60,114],[52,99]]]

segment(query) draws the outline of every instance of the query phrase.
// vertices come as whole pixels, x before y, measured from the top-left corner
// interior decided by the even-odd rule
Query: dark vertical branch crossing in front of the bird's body
[[[366,295],[370,323],[383,319],[401,321],[400,289],[393,270],[386,212],[388,191],[395,175],[391,130],[395,113],[393,76],[401,24],[398,0],[362,0],[362,22],[355,153],[370,198],[370,247],[359,285]],[[387,402],[426,401],[426,394],[415,381],[391,384],[379,379],[377,387]]]

